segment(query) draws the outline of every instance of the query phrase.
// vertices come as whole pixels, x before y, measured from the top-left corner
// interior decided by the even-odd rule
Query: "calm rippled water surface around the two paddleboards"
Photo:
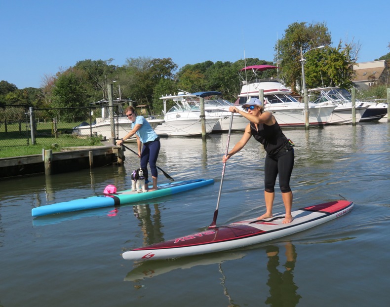
[[[210,225],[227,135],[162,139],[157,165],[176,180],[214,185],[148,204],[32,218],[31,209],[131,185],[138,166],[0,182],[0,306],[388,306],[390,125],[287,130],[295,144],[294,208],[340,199],[351,213],[232,252],[136,264],[121,253]],[[230,148],[241,133],[231,137]],[[135,147],[135,145],[130,145]],[[217,224],[264,212],[259,143],[227,163]],[[167,182],[162,174],[159,182]],[[283,211],[277,190],[274,212]],[[268,253],[268,254],[267,254]]]

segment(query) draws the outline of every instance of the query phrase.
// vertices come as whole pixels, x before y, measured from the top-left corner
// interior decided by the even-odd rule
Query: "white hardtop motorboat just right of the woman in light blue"
[[[160,97],[163,100],[164,122],[155,129],[159,136],[195,136],[202,134],[201,113],[198,106],[186,103],[186,99],[192,94],[179,92],[178,95]],[[195,95],[192,95],[195,97]],[[174,106],[166,111],[166,104],[173,101]],[[210,116],[204,113],[205,133],[213,131],[215,124],[221,117]]]

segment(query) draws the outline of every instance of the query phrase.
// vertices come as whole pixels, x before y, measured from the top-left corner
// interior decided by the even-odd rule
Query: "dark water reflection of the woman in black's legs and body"
[[[296,306],[302,298],[297,294],[298,287],[294,283],[294,268],[297,261],[295,246],[286,242],[286,263],[281,272],[279,267],[279,248],[275,245],[267,247],[267,269],[269,271],[267,285],[270,287],[270,295],[265,301],[270,306]]]

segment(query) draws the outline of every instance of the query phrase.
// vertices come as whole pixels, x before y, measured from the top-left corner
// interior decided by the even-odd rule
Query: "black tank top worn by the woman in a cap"
[[[274,155],[288,144],[288,139],[283,134],[277,121],[272,125],[250,123],[250,130],[256,141],[264,145],[265,151],[269,155]]]

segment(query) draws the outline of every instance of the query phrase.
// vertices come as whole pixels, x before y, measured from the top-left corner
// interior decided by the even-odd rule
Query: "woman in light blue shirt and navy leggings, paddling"
[[[133,122],[131,124],[132,130],[127,133],[123,139],[117,141],[117,146],[120,146],[123,141],[131,138],[135,134],[138,145],[138,156],[141,157],[140,166],[145,170],[145,178],[148,178],[148,162],[152,173],[153,187],[148,191],[155,191],[158,189],[156,161],[161,147],[160,138],[156,134],[155,130],[153,130],[150,123],[143,116],[137,115],[133,107],[127,107],[126,110],[124,110],[124,113]],[[144,147],[141,152],[142,144]],[[148,186],[146,186],[146,188],[148,189]]]

